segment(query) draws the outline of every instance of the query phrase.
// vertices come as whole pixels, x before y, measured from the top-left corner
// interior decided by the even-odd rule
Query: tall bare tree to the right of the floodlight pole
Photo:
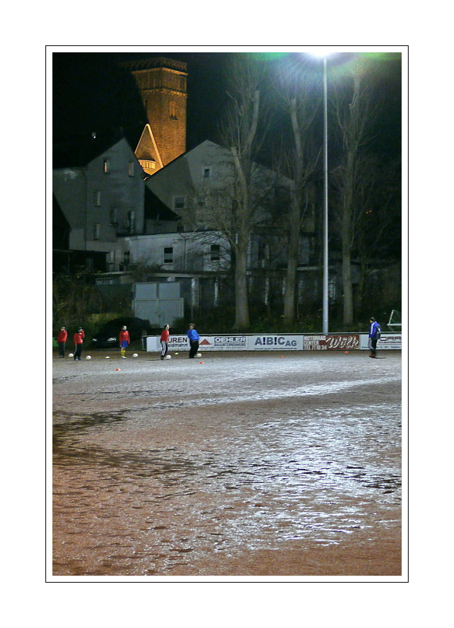
[[[352,70],[349,89],[337,89],[334,100],[335,116],[342,137],[343,155],[337,170],[339,206],[337,219],[342,238],[342,286],[344,290],[344,324],[353,323],[353,285],[351,257],[356,243],[358,223],[363,203],[367,145],[372,140],[372,123],[379,112],[379,104],[367,84],[365,61],[358,59]],[[363,189],[364,196],[364,189]]]

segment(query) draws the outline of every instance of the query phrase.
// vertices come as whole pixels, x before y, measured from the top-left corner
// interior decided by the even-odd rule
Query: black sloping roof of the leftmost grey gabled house
[[[86,166],[122,139],[126,140],[122,132],[114,131],[76,135],[68,140],[55,142],[52,147],[52,167],[57,170]]]

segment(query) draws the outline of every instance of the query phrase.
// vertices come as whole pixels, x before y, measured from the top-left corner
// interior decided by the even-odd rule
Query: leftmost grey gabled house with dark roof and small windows
[[[143,172],[129,143],[90,137],[59,147],[52,175],[54,197],[68,223],[68,249],[106,253],[109,264],[118,264],[119,237],[145,227]]]

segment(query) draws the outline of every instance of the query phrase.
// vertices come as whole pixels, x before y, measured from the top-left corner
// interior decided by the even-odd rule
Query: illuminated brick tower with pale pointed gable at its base
[[[121,65],[136,79],[147,112],[136,157],[153,174],[186,151],[187,65],[163,57]]]

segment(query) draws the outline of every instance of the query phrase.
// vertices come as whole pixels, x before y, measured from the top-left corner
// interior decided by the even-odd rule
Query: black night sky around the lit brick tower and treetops
[[[52,115],[55,139],[66,139],[79,133],[91,133],[122,127],[133,148],[136,147],[146,123],[145,112],[131,73],[119,68],[121,61],[149,57],[168,57],[188,64],[188,100],[186,149],[204,140],[217,140],[217,121],[226,106],[224,80],[228,52],[55,52],[52,67]],[[241,53],[235,53],[241,54]],[[296,53],[262,53],[270,76],[276,83],[280,70],[298,73],[299,66],[312,63],[317,89],[321,90],[321,62],[309,61]],[[331,61],[336,73],[349,55]],[[350,55],[351,57],[351,55]],[[383,97],[384,108],[377,124],[376,143],[383,154],[400,154],[400,91],[399,55],[383,54],[372,59],[371,71],[377,94]],[[320,80],[318,80],[320,77]],[[328,86],[329,89],[329,86]],[[279,125],[279,116],[275,121]],[[276,126],[275,130],[279,131]]]

